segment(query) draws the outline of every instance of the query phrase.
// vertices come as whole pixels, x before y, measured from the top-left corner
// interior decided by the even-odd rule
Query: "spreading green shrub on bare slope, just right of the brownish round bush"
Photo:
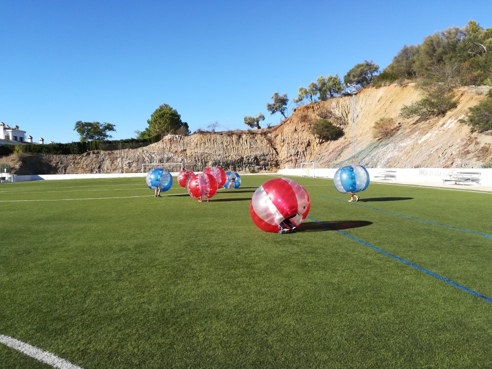
[[[417,88],[423,91],[424,98],[403,106],[400,111],[403,118],[426,120],[444,115],[458,106],[456,94],[449,86],[426,80],[418,83]]]

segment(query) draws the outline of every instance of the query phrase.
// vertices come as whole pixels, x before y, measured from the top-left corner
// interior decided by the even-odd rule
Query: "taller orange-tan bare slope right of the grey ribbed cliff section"
[[[468,108],[483,99],[478,95],[486,89],[462,88],[459,105],[443,117],[416,123],[403,120],[399,113],[403,105],[420,98],[414,86],[392,85],[369,88],[356,96],[358,162],[368,168],[472,168],[492,161],[492,136],[472,133],[458,120],[468,114]],[[298,167],[302,161],[313,161],[316,167],[333,168],[351,163],[352,124],[337,141],[320,142],[309,132],[316,111],[330,106],[347,121],[351,121],[352,97],[340,97],[296,109],[292,117],[275,127],[271,136],[286,167]],[[304,119],[303,119],[304,118]],[[372,137],[372,127],[380,118],[393,118],[398,132],[388,139]]]

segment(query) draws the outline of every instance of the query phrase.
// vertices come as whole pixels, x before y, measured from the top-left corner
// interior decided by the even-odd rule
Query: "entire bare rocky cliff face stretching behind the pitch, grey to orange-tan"
[[[462,88],[459,105],[444,117],[417,123],[402,120],[403,105],[420,98],[414,86],[391,85],[368,88],[356,96],[358,162],[368,168],[445,167],[472,168],[492,162],[492,136],[472,133],[458,123],[484,97],[487,89]],[[347,125],[345,135],[323,142],[310,133],[320,109],[330,107]],[[276,171],[315,162],[330,168],[352,161],[352,98],[339,97],[309,104],[272,129],[169,135],[155,144],[139,149],[89,152],[83,155],[32,155],[2,158],[17,174],[71,174],[139,172],[142,163],[183,163],[200,171],[218,165],[235,171]],[[380,118],[393,118],[398,132],[388,139],[372,137],[372,127]],[[176,168],[171,168],[176,170]]]

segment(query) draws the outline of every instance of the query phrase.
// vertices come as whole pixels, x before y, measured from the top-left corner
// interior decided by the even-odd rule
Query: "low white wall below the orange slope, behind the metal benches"
[[[443,168],[408,168],[408,169],[395,169],[395,168],[366,168],[369,172],[370,180],[381,180],[381,178],[375,178],[384,171],[396,171],[396,181],[398,182],[441,182],[444,178],[449,178],[453,174],[458,172],[479,172],[481,173],[481,184],[484,186],[492,185],[492,169],[443,169]],[[329,169],[281,169],[279,174],[285,176],[309,176],[319,178],[333,178],[338,168]],[[391,180],[388,180],[390,182]],[[449,184],[449,182],[448,182]]]

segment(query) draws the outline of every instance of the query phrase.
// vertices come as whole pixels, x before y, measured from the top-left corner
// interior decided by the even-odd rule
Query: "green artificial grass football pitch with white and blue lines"
[[[278,235],[249,217],[272,178],[209,203],[176,179],[0,184],[0,334],[84,369],[492,367],[491,303],[333,231],[492,297],[491,238],[371,209],[490,235],[491,193],[370,184],[368,208],[293,178],[317,222]],[[0,368],[48,366],[0,344]]]

